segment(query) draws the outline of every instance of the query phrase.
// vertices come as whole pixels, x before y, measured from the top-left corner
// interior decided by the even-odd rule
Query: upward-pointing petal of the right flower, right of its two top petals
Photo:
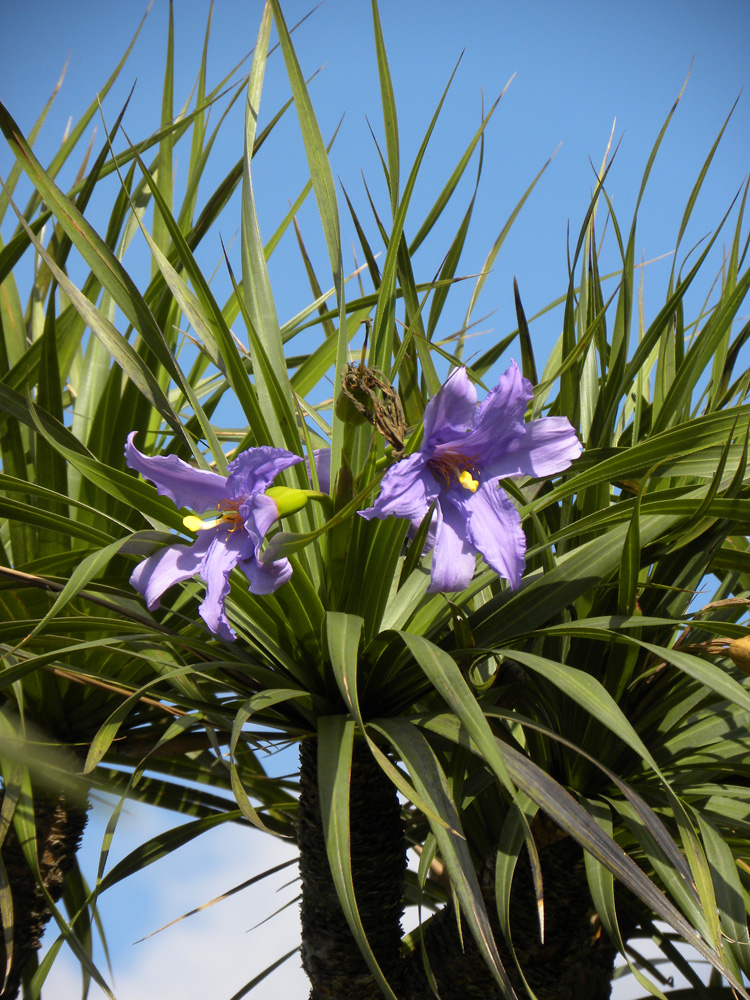
[[[494,463],[523,437],[526,405],[533,397],[531,382],[522,377],[513,361],[497,385],[477,409],[476,425],[467,435],[461,450],[476,461],[488,476],[497,475]]]

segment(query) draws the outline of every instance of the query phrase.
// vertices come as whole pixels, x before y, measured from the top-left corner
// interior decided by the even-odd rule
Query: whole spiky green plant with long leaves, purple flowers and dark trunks
[[[173,115],[168,69],[159,133],[118,151],[118,123],[66,193],[0,109],[35,192],[0,255],[0,279],[15,290],[0,300],[3,718],[24,746],[36,747],[41,730],[72,749],[67,771],[84,792],[118,793],[108,838],[130,795],[194,817],[109,870],[107,839],[94,889],[69,885],[66,920],[35,850],[46,843],[38,773],[62,787],[66,768],[32,775],[6,744],[3,817],[52,904],[53,952],[67,941],[114,996],[91,957],[87,920],[99,895],[165,850],[236,821],[299,847],[301,958],[313,1000],[599,1000],[618,954],[659,995],[658,971],[648,979],[631,944],[643,935],[696,990],[703,984],[676,942],[724,977],[728,985],[712,992],[747,996],[750,692],[733,659],[750,601],[750,378],[735,373],[750,336],[746,323],[735,329],[750,287],[747,187],[714,298],[686,322],[687,294],[726,222],[696,258],[683,252],[712,150],[663,305],[649,319],[633,307],[638,205],[626,230],[607,201],[606,164],[547,362],[537,368],[516,290],[517,328],[466,364],[472,309],[508,226],[474,279],[457,344],[438,331],[473,198],[437,277],[418,279],[419,250],[481,153],[495,106],[426,218],[412,222],[440,106],[402,182],[376,3],[372,13],[389,214],[384,221],[368,199],[368,237],[346,196],[367,262],[368,287],[353,297],[326,146],[278,0],[265,7],[238,90],[244,151],[208,199],[208,218],[194,220],[192,195],[176,206],[163,180],[192,123],[188,192],[197,190],[201,124],[215,97],[205,60],[193,111]],[[300,232],[311,301],[283,322],[268,271],[278,234],[263,243],[253,186],[268,150],[269,133],[257,127],[272,25],[310,174],[294,205],[314,191],[332,274],[325,291]],[[115,170],[103,239],[87,199]],[[227,254],[220,303],[196,250],[240,179],[240,260]],[[145,202],[154,206],[150,231]],[[616,233],[609,278],[600,209]],[[45,222],[54,240],[40,238]],[[139,226],[153,264],[145,288],[113,250]],[[73,246],[87,267],[80,287],[66,264]],[[26,319],[13,274],[24,252],[51,276],[32,289],[46,318],[31,344],[14,339]],[[191,348],[179,332],[187,326]],[[488,371],[514,341],[520,367],[487,390]],[[320,390],[329,378],[333,399]],[[212,419],[224,398],[241,411],[240,429]],[[308,502],[323,493],[324,502]],[[709,599],[698,598],[709,582]],[[41,606],[29,599],[39,593]],[[92,698],[97,711],[87,714]],[[261,741],[299,744],[293,779],[266,774]],[[416,872],[406,871],[407,847]],[[420,908],[408,934],[405,900]],[[30,904],[10,881],[0,902],[7,943]],[[21,972],[27,995],[38,995],[52,959],[35,969],[24,955],[18,969],[6,949],[17,965],[8,996]]]

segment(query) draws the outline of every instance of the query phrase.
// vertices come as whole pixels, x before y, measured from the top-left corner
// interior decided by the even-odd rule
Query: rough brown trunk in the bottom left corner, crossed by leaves
[[[0,805],[3,791],[0,790]],[[62,896],[86,826],[87,807],[72,802],[65,793],[42,792],[34,801],[39,872],[54,902]],[[13,897],[13,962],[0,1000],[15,1000],[24,966],[39,948],[52,913],[21,850],[11,824],[0,850]],[[5,940],[0,934],[0,979],[6,962]]]

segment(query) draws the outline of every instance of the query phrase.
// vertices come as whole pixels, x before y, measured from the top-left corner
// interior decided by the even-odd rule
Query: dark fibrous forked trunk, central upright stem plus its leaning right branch
[[[317,791],[317,742],[301,751],[299,805],[302,876],[302,964],[310,1000],[369,1000],[380,991],[359,953],[338,903],[323,838]],[[420,948],[401,956],[404,834],[396,791],[367,747],[355,743],[351,789],[352,876],[365,933],[398,1000],[435,996]],[[615,948],[591,905],[581,848],[569,837],[540,849],[545,942],[524,855],[516,866],[510,924],[516,957],[538,1000],[608,1000]],[[499,922],[494,870],[480,872],[485,907],[498,951],[517,995],[526,996]],[[459,930],[452,904],[424,928],[424,945],[440,1000],[499,1000],[503,993],[486,967],[465,921]]]

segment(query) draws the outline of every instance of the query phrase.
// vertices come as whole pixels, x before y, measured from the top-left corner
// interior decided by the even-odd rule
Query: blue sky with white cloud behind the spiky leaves
[[[282,4],[290,25],[309,9],[301,0],[282,0]],[[132,0],[106,7],[99,0],[28,0],[7,5],[0,41],[0,99],[25,132],[70,55],[63,87],[36,147],[42,162],[46,163],[57,149],[68,118],[77,118],[105,81],[144,9],[145,5]],[[217,0],[209,55],[210,83],[218,82],[249,52],[261,10],[260,0]],[[105,118],[112,122],[136,81],[125,118],[132,139],[149,133],[159,120],[167,12],[166,0],[155,0],[121,80],[104,106]],[[175,4],[176,107],[187,98],[198,69],[207,13],[204,0],[177,0]],[[408,170],[463,52],[415,192],[407,234],[413,235],[478,126],[482,95],[485,105],[489,105],[513,74],[513,82],[487,131],[482,185],[461,268],[464,273],[481,268],[506,218],[559,146],[486,283],[476,315],[491,316],[481,325],[488,332],[476,341],[478,350],[486,350],[494,337],[515,328],[514,275],[527,315],[564,293],[567,226],[570,224],[575,238],[594,186],[592,162],[599,166],[613,124],[615,142],[621,143],[607,189],[620,213],[621,225],[628,228],[650,149],[685,82],[691,61],[690,80],[644,197],[636,256],[658,258],[674,248],[690,190],[743,87],[746,93],[740,98],[712,164],[685,249],[715,228],[745,179],[750,164],[750,64],[746,55],[750,5],[746,0],[721,0],[710,6],[702,0],[630,0],[627,4],[601,0],[464,0],[460,5],[455,0],[382,0],[381,17],[398,102],[402,173]],[[341,178],[357,210],[367,216],[360,174],[364,171],[379,207],[385,211],[377,153],[367,124],[369,119],[380,138],[369,3],[326,0],[294,39],[305,73],[322,67],[310,92],[326,138],[345,115],[332,153],[334,174]],[[287,96],[282,61],[276,55],[269,62],[261,125]],[[224,127],[226,145],[216,151],[216,166],[207,175],[205,192],[211,189],[212,182],[218,183],[241,154],[241,104]],[[7,176],[10,164],[7,150],[0,149],[0,176]],[[268,237],[287,211],[288,200],[296,196],[306,179],[302,147],[291,115],[275,131],[254,167],[261,226]],[[469,173],[473,178],[473,170]],[[420,252],[422,279],[434,274],[470,194],[467,181],[445,224]],[[19,200],[23,204],[25,197]],[[92,210],[95,213],[96,206]],[[344,246],[348,247],[351,226],[344,212],[342,209]],[[225,241],[232,239],[238,220],[235,199],[220,227]],[[93,221],[96,224],[95,214]],[[321,283],[325,284],[326,256],[312,202],[301,213],[300,221]],[[374,234],[369,218],[367,225]],[[6,230],[3,232],[5,235]],[[611,240],[610,245],[614,250]],[[220,263],[218,239],[202,252],[206,267]],[[361,253],[359,260],[361,263]],[[671,258],[667,257],[646,270],[647,313],[649,308],[653,313],[654,304],[659,303],[670,266]],[[284,321],[310,298],[293,237],[282,241],[270,269],[277,308]],[[223,279],[219,275],[216,280]],[[468,294],[468,284],[466,289],[457,289],[456,304],[446,312],[445,335],[460,326]],[[550,315],[532,327],[538,358],[546,356],[558,325],[559,316]],[[136,815],[137,820],[128,820],[130,825],[121,841],[116,840],[116,853],[120,855],[128,844],[137,842],[136,838],[155,832],[157,824],[172,822],[169,817],[145,816],[142,812]],[[96,863],[97,837],[101,838],[103,822],[106,811],[97,805],[84,848],[89,872]],[[142,933],[257,873],[277,856],[276,846],[267,844],[260,835],[235,830],[223,839],[216,836],[211,843],[194,845],[185,849],[184,855],[153,866],[132,886],[118,890],[108,906],[105,900],[118,1000],[155,1000],[157,996],[161,1000],[178,995],[182,1000],[197,1000],[205,996],[207,985],[200,980],[197,967],[206,954],[216,956],[222,970],[221,981],[213,983],[216,989],[212,995],[226,994],[228,1000],[252,975],[291,947],[283,942],[287,940],[285,935],[293,938],[295,933],[294,907],[266,925],[273,930],[245,934],[247,928],[280,905],[271,895],[261,898],[248,893],[164,932],[154,945],[131,946]],[[276,884],[284,881],[282,877]],[[289,898],[287,890],[283,900]],[[156,948],[158,954],[153,950]],[[58,978],[48,997],[73,1000],[79,995],[72,967],[73,963],[66,965],[61,959],[54,973]],[[287,975],[291,978],[284,979]],[[293,968],[274,974],[253,994],[258,1000],[282,995],[305,995],[300,973]],[[624,990],[618,995],[628,994]]]

